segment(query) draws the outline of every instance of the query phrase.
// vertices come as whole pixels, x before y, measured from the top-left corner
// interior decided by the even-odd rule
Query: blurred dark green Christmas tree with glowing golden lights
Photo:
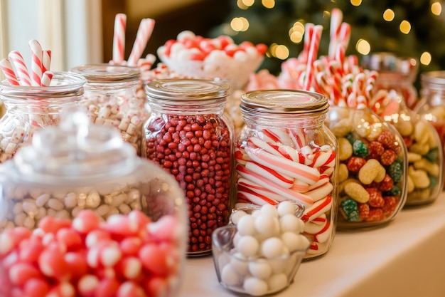
[[[441,3],[430,0],[233,0],[227,21],[210,35],[267,44],[261,68],[278,74],[282,61],[301,52],[306,23],[323,26],[318,56],[328,54],[333,8],[351,26],[346,55],[361,61],[386,51],[416,58],[419,73],[445,69],[444,14]]]

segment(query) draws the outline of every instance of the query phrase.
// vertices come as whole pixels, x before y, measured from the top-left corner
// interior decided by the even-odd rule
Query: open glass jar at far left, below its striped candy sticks
[[[0,83],[0,100],[6,113],[0,119],[0,163],[31,143],[34,132],[57,125],[64,108],[82,99],[85,78],[74,73],[55,72],[47,87]]]

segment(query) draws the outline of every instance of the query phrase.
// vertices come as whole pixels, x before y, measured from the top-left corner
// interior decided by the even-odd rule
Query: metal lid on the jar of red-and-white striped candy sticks
[[[275,114],[326,113],[328,98],[305,90],[254,90],[241,96],[240,109]]]

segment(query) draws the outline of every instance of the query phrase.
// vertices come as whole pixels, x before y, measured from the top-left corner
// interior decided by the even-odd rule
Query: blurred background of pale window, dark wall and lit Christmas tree
[[[378,51],[417,58],[419,73],[445,69],[444,3],[435,0],[0,0],[0,56],[28,54],[36,38],[53,49],[53,70],[112,58],[114,17],[127,14],[126,56],[139,22],[155,19],[144,55],[183,30],[231,36],[235,42],[269,46],[261,68],[278,74],[286,58],[298,56],[304,24],[322,25],[318,55],[328,52],[330,14],[343,11],[352,31],[347,55]],[[24,23],[24,26],[23,26]]]

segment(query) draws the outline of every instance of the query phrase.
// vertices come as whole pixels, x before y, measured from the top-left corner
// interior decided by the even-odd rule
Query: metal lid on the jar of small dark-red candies
[[[227,97],[229,88],[229,85],[216,80],[166,79],[148,83],[146,94],[157,99],[208,100]]]

